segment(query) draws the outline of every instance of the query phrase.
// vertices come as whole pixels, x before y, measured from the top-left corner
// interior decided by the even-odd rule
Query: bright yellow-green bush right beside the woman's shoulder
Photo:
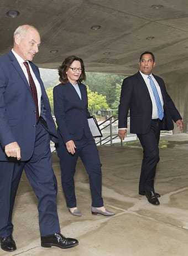
[[[106,96],[98,94],[96,91],[91,91],[87,86],[87,96],[88,96],[88,110],[92,115],[95,115],[98,110],[107,110],[108,104],[106,101]]]

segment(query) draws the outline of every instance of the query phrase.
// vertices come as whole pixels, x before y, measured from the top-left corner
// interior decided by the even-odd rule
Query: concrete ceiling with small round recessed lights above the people
[[[156,73],[188,67],[187,0],[1,0],[0,8],[0,53],[11,49],[18,25],[33,24],[41,34],[34,60],[41,68],[57,68],[75,54],[87,71],[130,75],[145,50],[156,55]],[[9,18],[9,10],[20,14]]]

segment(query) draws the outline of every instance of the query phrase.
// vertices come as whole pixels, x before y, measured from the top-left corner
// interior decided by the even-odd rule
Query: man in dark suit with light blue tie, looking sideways
[[[140,55],[139,71],[123,80],[119,104],[119,138],[127,135],[130,110],[130,132],[137,134],[143,147],[139,194],[159,205],[159,193],[154,190],[156,164],[159,162],[160,130],[173,130],[173,121],[182,130],[182,119],[168,95],[163,79],[153,75],[155,57],[151,52]]]

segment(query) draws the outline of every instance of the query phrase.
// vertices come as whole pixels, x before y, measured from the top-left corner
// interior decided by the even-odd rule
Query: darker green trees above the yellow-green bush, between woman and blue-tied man
[[[123,75],[87,72],[86,84],[91,91],[106,96],[107,104],[112,109],[117,100],[116,86],[122,84],[123,78]]]

